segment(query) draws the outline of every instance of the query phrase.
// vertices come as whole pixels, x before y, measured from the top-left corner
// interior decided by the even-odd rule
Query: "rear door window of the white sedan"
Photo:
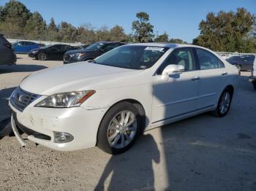
[[[222,61],[220,61],[219,58],[211,52],[199,48],[196,49],[196,52],[199,62],[198,64],[201,70],[220,69],[225,67]]]

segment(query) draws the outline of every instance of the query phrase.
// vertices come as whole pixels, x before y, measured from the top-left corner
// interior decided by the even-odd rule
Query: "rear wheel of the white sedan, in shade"
[[[220,95],[217,108],[213,113],[215,117],[225,117],[225,115],[230,109],[232,98],[233,98],[232,90],[230,90],[230,88],[225,88],[225,90],[223,90],[222,92],[222,95]]]

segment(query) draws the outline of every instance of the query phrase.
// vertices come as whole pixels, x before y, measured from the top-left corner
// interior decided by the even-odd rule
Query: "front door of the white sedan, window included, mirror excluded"
[[[163,79],[162,71],[169,64],[182,65],[185,71]],[[170,53],[153,77],[152,123],[196,111],[199,95],[198,73],[192,48],[177,48]]]

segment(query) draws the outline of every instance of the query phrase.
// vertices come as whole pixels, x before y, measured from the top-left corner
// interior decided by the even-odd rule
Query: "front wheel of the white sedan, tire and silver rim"
[[[113,155],[125,152],[135,143],[142,126],[143,120],[135,105],[127,101],[116,104],[108,110],[99,125],[97,147]]]

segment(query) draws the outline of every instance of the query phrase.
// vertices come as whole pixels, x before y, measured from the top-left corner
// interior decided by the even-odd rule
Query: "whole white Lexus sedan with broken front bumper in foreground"
[[[69,151],[97,146],[126,151],[143,130],[213,112],[224,117],[238,69],[203,47],[127,44],[93,61],[45,69],[10,97],[12,129]]]

